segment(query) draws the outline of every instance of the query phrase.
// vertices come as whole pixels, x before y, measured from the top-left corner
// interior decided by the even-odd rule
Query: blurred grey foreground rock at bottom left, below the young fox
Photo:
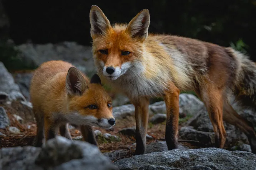
[[[8,170],[117,170],[98,147],[58,136],[42,147],[11,147],[0,150],[2,169]]]

